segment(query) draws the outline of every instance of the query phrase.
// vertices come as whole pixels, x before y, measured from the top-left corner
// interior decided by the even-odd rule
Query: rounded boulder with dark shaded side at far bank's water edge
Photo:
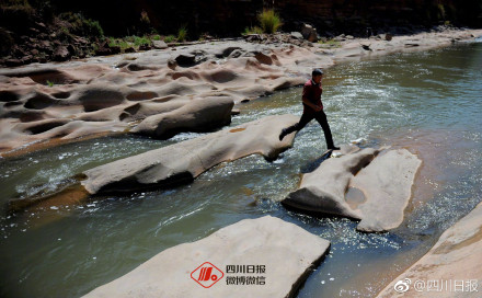
[[[227,96],[193,100],[181,108],[145,118],[131,133],[168,139],[181,131],[209,131],[231,123],[234,102]]]

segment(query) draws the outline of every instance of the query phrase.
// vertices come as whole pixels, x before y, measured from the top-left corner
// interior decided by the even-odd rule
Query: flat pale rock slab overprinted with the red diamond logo
[[[329,247],[328,240],[279,218],[244,219],[164,250],[84,297],[292,297]],[[205,262],[222,272],[213,270],[220,276],[209,288],[193,280],[199,276],[194,271]],[[263,265],[265,273],[230,273],[228,265]],[[227,278],[237,276],[262,276],[265,284],[228,285]]]

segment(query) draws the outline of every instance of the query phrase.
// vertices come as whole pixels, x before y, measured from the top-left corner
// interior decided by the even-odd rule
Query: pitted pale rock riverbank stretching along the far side
[[[444,30],[369,39],[341,36],[334,44],[302,46],[261,36],[4,68],[0,153],[15,156],[97,134],[128,133],[149,116],[186,108],[194,100],[221,96],[240,104],[302,84],[313,67],[426,50],[480,35],[482,30]],[[197,129],[213,129],[213,123]]]

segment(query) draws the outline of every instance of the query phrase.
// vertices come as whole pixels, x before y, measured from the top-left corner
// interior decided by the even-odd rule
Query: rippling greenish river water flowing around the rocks
[[[355,221],[280,205],[325,151],[322,130],[312,122],[272,163],[252,156],[171,190],[3,216],[0,296],[78,297],[162,250],[264,215],[332,243],[298,297],[375,296],[482,200],[482,44],[349,62],[325,73],[323,103],[336,144],[363,138],[364,147],[403,147],[424,160],[400,228],[360,233]],[[300,91],[241,104],[230,127],[266,115],[300,115]],[[83,170],[196,136],[106,137],[0,160],[0,202],[54,191]]]

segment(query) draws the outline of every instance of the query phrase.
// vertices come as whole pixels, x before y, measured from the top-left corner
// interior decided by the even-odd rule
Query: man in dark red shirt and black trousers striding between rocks
[[[323,91],[321,87],[322,78],[323,71],[321,69],[315,68],[313,72],[311,72],[311,79],[303,85],[303,114],[301,115],[299,123],[290,127],[283,128],[282,134],[279,134],[279,140],[283,140],[286,135],[289,135],[295,130],[301,130],[310,121],[314,118],[321,125],[321,128],[323,128],[328,149],[340,150],[340,147],[335,147],[333,144],[330,125],[328,124],[326,115],[323,112],[323,104],[321,103],[321,93]]]

